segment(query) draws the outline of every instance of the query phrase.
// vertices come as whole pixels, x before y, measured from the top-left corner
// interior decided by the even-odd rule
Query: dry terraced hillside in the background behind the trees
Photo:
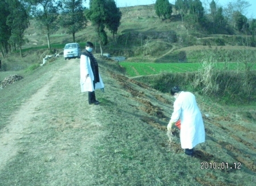
[[[125,56],[127,61],[177,63],[184,61],[181,56],[185,56],[187,62],[199,62],[205,55],[202,49],[216,52],[218,48],[218,61],[224,61],[224,56],[231,56],[228,61],[233,62],[239,60],[237,50],[246,49],[244,46],[250,43],[251,36],[239,33],[227,35],[224,31],[223,34],[210,34],[203,28],[187,29],[175,10],[170,20],[159,19],[154,5],[122,7],[120,10],[122,19],[117,42],[113,41],[112,34],[105,28],[109,42],[103,49],[112,56]],[[28,43],[23,46],[24,49],[47,48],[46,35],[36,28],[35,20],[30,21],[26,38]],[[100,47],[95,43],[96,35],[90,22],[84,30],[76,33],[76,42],[82,47],[88,40],[95,44],[96,52],[99,53]],[[63,52],[64,45],[70,42],[73,42],[72,36],[63,28],[51,35],[52,51],[57,49],[57,52]]]

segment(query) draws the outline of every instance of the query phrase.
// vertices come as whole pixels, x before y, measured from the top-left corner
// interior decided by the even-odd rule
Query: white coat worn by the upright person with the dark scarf
[[[86,75],[89,77],[86,78]],[[93,92],[96,89],[104,88],[104,83],[100,76],[100,82],[95,84],[95,89],[93,88],[93,72],[92,67],[90,67],[90,59],[88,56],[81,55],[80,57],[80,85],[81,85],[81,92]]]

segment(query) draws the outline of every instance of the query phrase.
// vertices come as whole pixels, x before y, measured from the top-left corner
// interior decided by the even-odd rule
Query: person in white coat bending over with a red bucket
[[[171,89],[171,95],[175,97],[174,112],[167,125],[170,131],[180,119],[180,143],[185,154],[192,156],[193,148],[205,142],[204,122],[201,112],[197,106],[195,96],[190,92],[180,91],[179,86]]]

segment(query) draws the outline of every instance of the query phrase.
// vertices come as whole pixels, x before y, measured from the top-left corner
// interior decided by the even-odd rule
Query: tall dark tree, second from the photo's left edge
[[[26,42],[24,31],[29,25],[29,16],[24,5],[18,0],[8,0],[10,14],[7,16],[7,25],[11,28],[10,43],[19,47],[22,57],[22,45]]]

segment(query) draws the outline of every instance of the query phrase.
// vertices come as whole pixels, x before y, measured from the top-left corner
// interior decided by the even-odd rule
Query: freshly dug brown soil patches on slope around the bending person
[[[134,100],[141,103],[140,106],[137,106],[137,109],[142,110],[145,113],[155,116],[159,119],[165,119],[165,121],[168,122],[168,117],[166,117],[166,115],[164,115],[163,110],[161,108],[159,108],[159,106],[153,105],[150,100],[147,100],[146,99],[147,95],[140,92],[136,88],[133,88],[133,85],[131,85],[130,82],[133,82],[134,84],[137,84],[137,85],[141,86],[142,88],[146,88],[143,84],[140,85],[134,80],[129,82],[129,81],[127,81],[126,77],[122,77],[120,75],[114,75],[113,73],[111,73],[111,75],[112,75],[112,77],[117,78],[119,84],[122,85],[123,88],[125,88],[128,92],[131,93],[131,95],[133,96],[132,98]],[[165,104],[171,105],[171,102],[168,101],[166,98],[163,98],[161,95],[159,95],[159,94],[152,94],[152,95],[154,96],[154,98],[156,98],[156,100],[158,100],[160,102],[164,102]],[[226,123],[226,122],[232,123],[228,126],[233,127],[235,130],[242,130],[245,132],[249,131],[248,129],[246,129],[245,127],[243,127],[241,125],[233,125],[234,119],[229,116],[226,116],[226,115],[225,116],[218,115],[213,118],[207,118],[207,117],[203,116],[203,118],[204,118],[204,120],[207,120],[210,123],[210,125],[220,127],[221,130],[226,131],[226,132],[232,132],[232,131],[230,131],[230,129],[225,127],[225,125],[222,124],[222,123]],[[141,118],[141,120],[143,122],[148,123],[148,125],[155,127],[156,129],[166,131],[166,126],[161,125],[154,118],[143,117],[143,118]],[[209,127],[207,127],[207,126],[205,126],[205,131],[206,131],[207,135],[209,135],[209,136],[212,136],[214,134],[214,132],[212,130],[210,130]],[[176,133],[176,137],[179,138],[178,133]],[[237,142],[242,143],[246,147],[248,147],[251,150],[253,150],[254,152],[256,152],[253,144],[246,142],[246,140],[241,139],[240,137],[237,137],[236,135],[230,135],[230,137],[232,137]],[[216,142],[217,142],[217,147],[227,150],[229,152],[229,155],[233,156],[234,159],[236,159],[238,162],[243,163],[243,165],[246,166],[247,168],[249,168],[249,170],[255,172],[255,166],[251,161],[247,160],[247,158],[248,158],[247,154],[243,154],[243,152],[240,151],[233,144],[230,144],[223,140],[218,140]],[[168,147],[175,153],[183,153],[183,150],[180,148],[180,144],[177,144],[175,142],[168,142]],[[237,157],[240,157],[240,158],[237,158]],[[242,157],[244,157],[244,158],[242,158]],[[221,166],[221,162],[225,162],[225,160],[221,160],[221,159],[217,158],[216,156],[209,154],[208,152],[206,152],[204,150],[196,150],[195,158],[200,159],[202,162],[216,162],[219,167]],[[236,170],[224,169],[221,171],[232,172],[232,171],[236,171]],[[203,182],[200,179],[198,179],[197,181],[199,181],[201,184],[203,184]],[[209,185],[211,185],[211,184],[209,184]],[[226,184],[221,184],[221,185],[226,185]]]

